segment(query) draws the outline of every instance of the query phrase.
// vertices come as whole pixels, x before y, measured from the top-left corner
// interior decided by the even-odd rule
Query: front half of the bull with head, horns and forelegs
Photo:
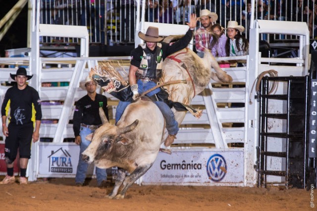
[[[124,198],[127,189],[157,158],[164,118],[153,102],[145,100],[128,105],[116,126],[107,122],[102,109],[100,113],[103,125],[93,133],[83,159],[101,169],[118,167],[114,188],[107,197]],[[127,176],[126,171],[130,173]]]

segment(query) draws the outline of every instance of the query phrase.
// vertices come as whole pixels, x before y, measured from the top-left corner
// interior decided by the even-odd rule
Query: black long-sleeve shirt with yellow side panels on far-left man
[[[8,103],[10,103],[10,123],[12,124],[24,125],[31,123],[32,105],[36,112],[35,120],[42,119],[39,93],[29,85],[26,85],[22,90],[18,89],[17,85],[14,85],[5,92],[1,106],[1,116],[6,116],[5,108]]]

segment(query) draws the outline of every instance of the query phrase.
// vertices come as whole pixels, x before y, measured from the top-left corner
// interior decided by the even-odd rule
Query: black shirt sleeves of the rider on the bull
[[[193,30],[188,30],[184,37],[179,39],[179,41],[174,42],[172,45],[170,43],[162,42],[162,59],[164,60],[167,56],[169,56],[172,53],[175,53],[185,47],[189,44],[189,42],[193,38]],[[152,52],[155,52],[157,50],[156,46]],[[140,67],[141,60],[143,55],[143,48],[142,46],[138,46],[137,48],[133,49],[131,51],[131,64],[136,67]]]

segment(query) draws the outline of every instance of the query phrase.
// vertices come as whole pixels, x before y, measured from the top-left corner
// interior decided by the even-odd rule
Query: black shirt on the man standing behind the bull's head
[[[73,130],[75,136],[79,135],[80,124],[82,123],[94,126],[102,124],[99,115],[100,107],[103,107],[106,118],[109,120],[107,98],[105,95],[96,94],[95,101],[93,101],[88,95],[85,95],[77,101],[73,116]]]

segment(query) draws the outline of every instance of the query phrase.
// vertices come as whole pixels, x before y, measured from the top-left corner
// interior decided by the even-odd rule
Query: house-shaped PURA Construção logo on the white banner
[[[51,155],[49,158],[49,171],[56,172],[56,173],[72,173],[73,166],[71,164],[71,156],[64,150],[59,148],[55,152],[52,150]]]

